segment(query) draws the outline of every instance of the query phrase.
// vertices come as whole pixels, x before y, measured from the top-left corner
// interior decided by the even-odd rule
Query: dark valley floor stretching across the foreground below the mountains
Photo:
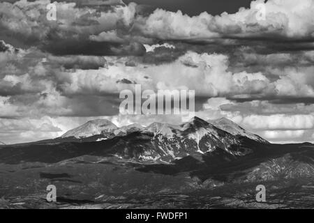
[[[188,174],[87,160],[0,164],[0,208],[314,208],[314,178],[206,184]],[[57,202],[49,203],[51,184]],[[260,184],[267,188],[264,203],[255,200]]]

